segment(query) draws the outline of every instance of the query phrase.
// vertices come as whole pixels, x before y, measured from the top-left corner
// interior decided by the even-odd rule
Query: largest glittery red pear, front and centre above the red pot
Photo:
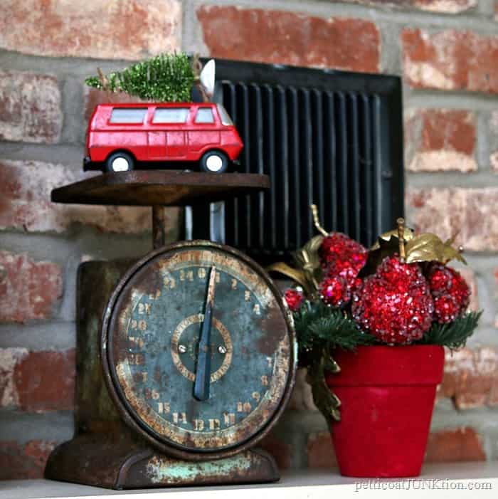
[[[388,344],[419,340],[433,322],[434,303],[416,263],[384,258],[375,274],[354,293],[351,312],[366,332]]]

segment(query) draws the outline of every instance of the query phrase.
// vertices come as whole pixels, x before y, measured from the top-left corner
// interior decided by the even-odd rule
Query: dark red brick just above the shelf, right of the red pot
[[[429,435],[426,463],[486,461],[482,441],[469,427],[436,431]]]

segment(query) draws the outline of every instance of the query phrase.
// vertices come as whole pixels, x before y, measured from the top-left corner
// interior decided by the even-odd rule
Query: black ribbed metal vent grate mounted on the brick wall
[[[403,214],[399,78],[216,61],[215,98],[245,148],[240,171],[269,192],[227,201],[224,240],[267,263],[322,225],[370,245]]]

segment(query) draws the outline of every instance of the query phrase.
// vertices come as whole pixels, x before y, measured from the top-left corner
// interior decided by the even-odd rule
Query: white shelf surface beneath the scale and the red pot
[[[346,478],[335,471],[287,471],[280,482],[265,485],[109,490],[53,480],[0,481],[0,499],[336,499],[497,498],[498,461],[443,463],[424,466],[418,478],[378,480]]]

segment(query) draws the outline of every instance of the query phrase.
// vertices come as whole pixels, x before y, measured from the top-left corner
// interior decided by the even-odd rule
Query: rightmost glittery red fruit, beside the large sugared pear
[[[440,324],[452,322],[467,310],[470,289],[457,270],[442,263],[432,263],[428,282],[434,297],[434,318]]]

